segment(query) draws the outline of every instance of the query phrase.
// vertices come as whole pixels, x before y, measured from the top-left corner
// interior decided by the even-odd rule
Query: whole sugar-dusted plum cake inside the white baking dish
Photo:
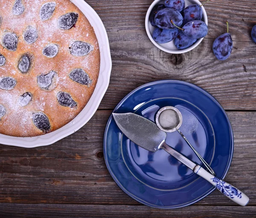
[[[99,65],[93,27],[70,0],[0,0],[0,133],[39,136],[69,123]]]

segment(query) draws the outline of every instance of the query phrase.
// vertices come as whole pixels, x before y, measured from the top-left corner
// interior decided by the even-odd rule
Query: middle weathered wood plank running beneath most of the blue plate
[[[100,110],[81,130],[47,147],[0,146],[0,202],[138,204],[112,180],[102,157],[111,111]],[[256,204],[256,112],[228,112],[235,135],[227,181]],[[215,191],[198,205],[235,205]]]

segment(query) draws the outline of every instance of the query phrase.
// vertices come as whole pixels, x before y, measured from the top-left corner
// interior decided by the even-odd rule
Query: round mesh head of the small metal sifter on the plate
[[[182,124],[182,115],[177,108],[166,106],[158,111],[156,124],[164,132],[175,132]]]

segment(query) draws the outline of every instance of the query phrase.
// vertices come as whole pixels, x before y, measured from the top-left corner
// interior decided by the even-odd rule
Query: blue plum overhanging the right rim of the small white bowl
[[[192,20],[183,25],[183,33],[193,39],[200,39],[205,37],[208,32],[208,27],[204,21]]]

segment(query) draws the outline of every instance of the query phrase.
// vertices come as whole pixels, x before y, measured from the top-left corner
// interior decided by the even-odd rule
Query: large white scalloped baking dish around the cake
[[[84,109],[67,125],[61,127],[58,130],[55,130],[51,133],[47,133],[43,136],[35,136],[35,137],[14,137],[14,136],[6,136],[0,134],[0,144],[14,145],[18,147],[39,147],[44,145],[49,145],[54,142],[57,142],[60,139],[63,139],[66,136],[76,132],[81,127],[83,127],[96,112],[99,104],[107,91],[112,62],[111,62],[111,54],[108,42],[108,35],[106,29],[100,19],[99,15],[91,8],[84,0],[70,0],[73,2],[87,17],[90,24],[93,26],[96,37],[99,42],[99,50],[100,50],[100,71],[99,71],[99,79],[96,85],[96,88],[91,96],[89,102],[84,107]]]

